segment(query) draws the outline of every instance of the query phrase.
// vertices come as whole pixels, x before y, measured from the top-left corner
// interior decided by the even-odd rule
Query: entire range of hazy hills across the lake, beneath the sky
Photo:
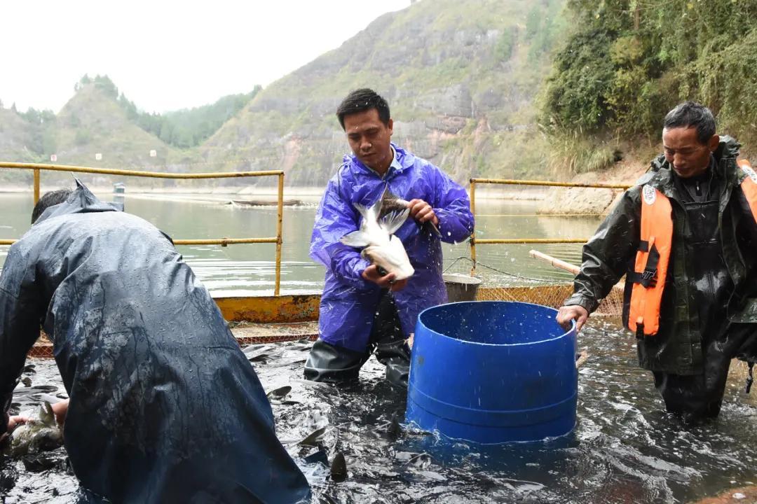
[[[57,115],[0,110],[0,159],[285,169],[287,184],[322,187],[348,150],[335,109],[370,87],[389,100],[394,140],[457,180],[537,176],[547,144],[534,98],[565,31],[564,1],[415,2],[263,90],[173,113],[144,113],[107,76],[85,76]]]

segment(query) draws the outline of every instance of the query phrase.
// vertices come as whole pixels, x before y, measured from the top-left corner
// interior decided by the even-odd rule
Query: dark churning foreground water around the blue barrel
[[[755,482],[757,410],[743,401],[742,384],[729,386],[717,421],[683,425],[662,413],[651,376],[637,369],[633,344],[612,323],[591,321],[579,338],[590,358],[578,377],[575,433],[498,447],[398,427],[405,391],[388,385],[373,359],[360,382],[346,388],[302,380],[310,342],[268,345],[254,367],[266,391],[275,391],[279,439],[313,486],[313,502],[690,502]],[[64,392],[54,361],[29,363],[34,369],[24,375],[33,386]],[[285,387],[291,391],[284,394]],[[26,393],[14,400],[21,409],[37,402]],[[318,429],[316,446],[298,444],[317,438],[310,434]],[[344,481],[316,462],[337,453],[347,462]],[[0,462],[0,488],[8,504],[74,502],[80,492],[63,448]]]

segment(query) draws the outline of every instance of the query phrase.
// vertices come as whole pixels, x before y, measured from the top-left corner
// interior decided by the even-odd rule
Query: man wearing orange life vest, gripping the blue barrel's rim
[[[662,143],[584,246],[557,321],[581,329],[626,274],[623,323],[666,409],[715,417],[731,359],[757,360],[757,175],[702,105],[671,110]]]

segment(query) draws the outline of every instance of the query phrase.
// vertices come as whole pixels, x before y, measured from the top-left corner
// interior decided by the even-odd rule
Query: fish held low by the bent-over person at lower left
[[[8,437],[8,444],[2,453],[8,456],[21,456],[42,450],[55,450],[63,443],[63,434],[50,403],[45,401],[39,408],[26,416],[26,423],[19,425]]]

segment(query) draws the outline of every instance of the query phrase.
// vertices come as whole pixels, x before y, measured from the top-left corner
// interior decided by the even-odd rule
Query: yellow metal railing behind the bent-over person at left
[[[0,168],[25,169],[34,172],[34,203],[39,201],[39,173],[42,170],[51,172],[95,173],[98,175],[121,175],[123,177],[145,178],[238,178],[238,177],[279,177],[278,209],[276,212],[276,237],[267,238],[220,238],[217,240],[173,240],[176,245],[220,245],[227,246],[238,243],[276,243],[276,283],[273,295],[279,295],[282,274],[282,221],[284,217],[284,172],[269,170],[268,172],[227,172],[227,173],[165,173],[139,172],[132,170],[89,168],[89,166],[44,165],[28,162],[0,162]],[[16,240],[0,240],[0,245],[12,245]]]

